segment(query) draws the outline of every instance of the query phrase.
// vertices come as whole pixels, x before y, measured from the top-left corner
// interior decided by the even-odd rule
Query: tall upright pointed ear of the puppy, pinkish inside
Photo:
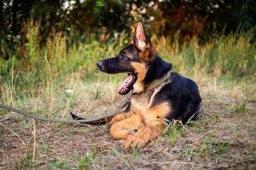
[[[141,22],[136,24],[133,43],[139,50],[138,56],[140,59],[147,62],[153,58],[154,48],[145,33]]]

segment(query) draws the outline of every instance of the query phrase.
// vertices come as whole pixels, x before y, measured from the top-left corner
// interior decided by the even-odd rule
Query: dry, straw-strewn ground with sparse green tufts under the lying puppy
[[[108,125],[35,122],[2,111],[0,168],[255,169],[255,81],[195,79],[203,99],[199,119],[189,125],[174,122],[160,138],[140,150],[124,150],[124,141],[113,140]],[[74,100],[74,111],[84,113],[79,115],[112,111],[120,99],[114,82],[107,86],[81,83],[76,85],[83,87],[76,91],[76,98],[68,99]],[[66,89],[66,94],[72,91],[68,86],[60,89],[63,93]],[[55,100],[51,107],[58,108],[61,102]],[[68,117],[66,110],[61,114]]]

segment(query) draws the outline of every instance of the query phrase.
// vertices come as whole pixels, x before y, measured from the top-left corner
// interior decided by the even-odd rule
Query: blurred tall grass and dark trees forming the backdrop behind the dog
[[[196,81],[203,75],[255,80],[255,8],[255,0],[0,1],[1,102],[14,105],[40,87],[53,104],[57,85],[73,74],[118,82],[95,64],[131,42],[137,21],[175,71]]]

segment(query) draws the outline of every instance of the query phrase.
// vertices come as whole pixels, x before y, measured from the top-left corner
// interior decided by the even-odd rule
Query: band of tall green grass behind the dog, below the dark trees
[[[26,47],[26,57],[18,59],[18,55],[8,60],[0,59],[0,94],[1,103],[21,107],[37,103],[37,98],[52,109],[55,91],[73,80],[79,82],[110,82],[117,84],[121,75],[102,74],[96,69],[96,61],[118,54],[123,48],[123,42],[114,39],[102,43],[91,36],[87,42],[73,44],[67,47],[66,37],[56,33],[43,47],[39,48],[37,26],[31,26]],[[253,77],[256,72],[256,48],[249,43],[249,35],[230,35],[216,37],[212,42],[195,48],[195,40],[177,47],[165,39],[153,40],[156,48],[164,59],[173,64],[173,70],[182,72],[200,80],[201,77],[223,77],[223,80],[233,77]],[[225,77],[225,78],[224,78]],[[255,78],[253,78],[255,81]],[[61,94],[62,95],[62,94]],[[101,88],[96,88],[95,99],[102,98]],[[75,95],[70,104],[76,99]],[[36,111],[40,106],[36,105]]]

